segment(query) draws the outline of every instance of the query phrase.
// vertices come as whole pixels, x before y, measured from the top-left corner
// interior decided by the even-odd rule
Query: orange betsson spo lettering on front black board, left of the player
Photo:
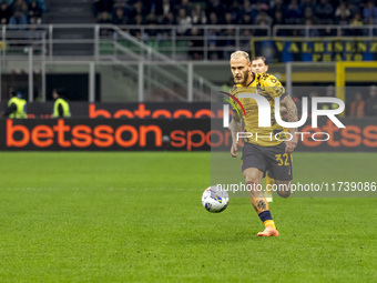
[[[131,124],[113,128],[106,124],[89,127],[85,124],[68,125],[63,119],[57,120],[55,125],[37,124],[26,127],[13,124],[13,120],[7,120],[7,146],[8,148],[161,148],[163,130],[160,125],[149,124],[134,127]],[[170,133],[171,146],[192,151],[204,145],[221,146],[224,142],[223,133],[202,130],[173,130]],[[126,137],[126,139],[125,139]],[[150,138],[150,139],[149,139]],[[226,134],[225,139],[230,140]],[[216,140],[214,142],[212,139]]]

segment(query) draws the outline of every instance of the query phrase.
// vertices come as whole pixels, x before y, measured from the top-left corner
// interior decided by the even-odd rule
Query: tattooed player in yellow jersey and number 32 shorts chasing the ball
[[[251,189],[251,201],[258,214],[259,219],[265,225],[263,232],[257,233],[258,236],[278,236],[275,222],[269,212],[268,203],[263,195],[262,179],[264,173],[269,170],[271,175],[275,179],[277,185],[277,193],[283,198],[291,195],[292,181],[292,156],[291,153],[297,145],[296,129],[289,129],[292,139],[282,142],[275,140],[274,137],[278,132],[286,133],[286,129],[276,123],[274,98],[281,98],[281,104],[287,110],[288,122],[297,121],[297,108],[294,101],[287,93],[285,93],[282,83],[274,77],[267,73],[252,72],[252,63],[248,54],[244,51],[236,51],[231,55],[231,70],[234,78],[235,85],[231,90],[231,94],[237,98],[240,93],[254,93],[256,88],[258,94],[268,100],[271,105],[272,125],[269,128],[258,128],[258,109],[253,99],[238,98],[243,104],[246,117],[244,119],[245,131],[253,133],[251,138],[245,139],[242,156],[242,171],[245,178],[246,185]],[[243,113],[241,105],[240,113]],[[233,111],[233,118],[230,123],[232,132],[232,148],[231,154],[233,158],[238,155],[238,140],[237,133],[244,132],[242,129],[242,118],[236,111]],[[256,134],[258,138],[256,138]],[[269,139],[272,138],[272,139]]]

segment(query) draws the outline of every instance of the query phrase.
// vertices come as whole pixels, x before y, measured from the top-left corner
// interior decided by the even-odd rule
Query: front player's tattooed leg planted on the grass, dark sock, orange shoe
[[[258,236],[278,236],[273,216],[271,215],[268,203],[263,195],[262,178],[263,171],[256,168],[244,170],[244,176],[249,190],[251,201],[254,210],[258,214],[261,221],[265,225],[265,230],[259,232]]]

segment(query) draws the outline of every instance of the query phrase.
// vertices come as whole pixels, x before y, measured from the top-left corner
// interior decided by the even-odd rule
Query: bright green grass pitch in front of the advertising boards
[[[377,154],[295,153],[295,179],[373,181]],[[0,282],[373,282],[375,199],[206,212],[210,153],[0,153]],[[371,169],[366,171],[365,169]],[[346,180],[345,180],[346,181]],[[374,180],[376,181],[376,180]]]

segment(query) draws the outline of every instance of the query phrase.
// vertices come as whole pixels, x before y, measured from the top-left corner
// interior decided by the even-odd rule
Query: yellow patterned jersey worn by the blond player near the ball
[[[245,138],[248,143],[258,144],[262,146],[274,146],[282,143],[286,139],[287,129],[281,127],[275,120],[275,97],[286,95],[282,83],[272,74],[253,73],[254,79],[247,87],[235,84],[231,89],[231,94],[235,95],[244,107],[246,117],[244,115],[241,105],[233,100],[238,113],[244,119],[245,132],[253,134],[251,138]],[[257,92],[256,92],[257,91]],[[271,107],[271,127],[258,127],[258,107],[254,99],[238,98],[241,93],[258,93],[267,99]],[[279,109],[277,109],[279,111]],[[276,133],[283,132],[275,138]],[[251,135],[248,134],[248,135]],[[282,141],[283,140],[283,141]]]

